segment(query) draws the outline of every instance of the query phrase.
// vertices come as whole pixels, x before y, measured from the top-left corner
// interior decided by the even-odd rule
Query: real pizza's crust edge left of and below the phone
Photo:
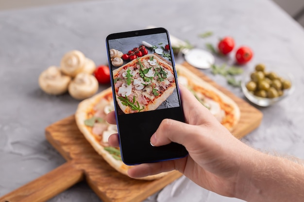
[[[75,119],[76,124],[79,128],[79,130],[84,134],[85,139],[93,146],[95,151],[103,157],[103,159],[110,164],[111,167],[113,167],[118,172],[127,175],[128,176],[128,169],[130,169],[132,166],[125,165],[122,161],[117,160],[112,157],[110,153],[104,150],[104,147],[94,138],[94,135],[91,133],[91,131],[88,129],[88,126],[84,124],[84,121],[88,118],[88,112],[91,111],[94,106],[106,95],[108,94],[112,95],[112,89],[111,87],[102,91],[101,93],[98,93],[94,95],[91,98],[85,99],[81,103],[79,103],[78,108],[75,113]],[[142,178],[136,178],[141,180],[155,180],[158,178],[161,178],[165,175],[167,175],[169,172],[163,172],[156,175],[151,175],[147,177]]]

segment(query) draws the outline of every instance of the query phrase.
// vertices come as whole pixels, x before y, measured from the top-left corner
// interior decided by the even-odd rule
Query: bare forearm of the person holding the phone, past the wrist
[[[253,152],[239,174],[239,198],[247,202],[303,202],[304,166],[287,158]],[[248,158],[248,157],[247,157]]]

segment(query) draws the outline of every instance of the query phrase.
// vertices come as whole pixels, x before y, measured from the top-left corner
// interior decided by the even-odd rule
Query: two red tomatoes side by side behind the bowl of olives
[[[235,41],[232,37],[224,37],[218,44],[219,52],[223,55],[230,53],[235,47]],[[253,57],[253,51],[250,47],[239,47],[236,50],[236,62],[238,64],[245,64]]]

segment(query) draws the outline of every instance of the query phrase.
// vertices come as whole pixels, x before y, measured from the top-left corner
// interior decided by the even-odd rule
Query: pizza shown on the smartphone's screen
[[[113,78],[118,106],[126,114],[157,109],[176,89],[172,66],[153,54],[113,70]]]

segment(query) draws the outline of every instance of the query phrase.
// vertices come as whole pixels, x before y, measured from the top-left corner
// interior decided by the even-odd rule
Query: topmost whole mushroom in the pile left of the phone
[[[67,52],[60,62],[61,71],[68,76],[75,77],[84,67],[85,56],[79,50]]]

